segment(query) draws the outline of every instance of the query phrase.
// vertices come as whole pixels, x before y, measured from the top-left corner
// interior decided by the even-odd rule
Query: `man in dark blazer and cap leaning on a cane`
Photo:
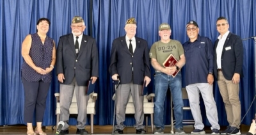
[[[150,63],[146,40],[135,37],[136,21],[128,19],[125,25],[126,35],[113,40],[109,73],[113,80],[120,77],[116,91],[115,132],[123,134],[125,128],[125,108],[131,93],[135,107],[136,134],[145,133],[143,121],[143,82],[150,83]]]

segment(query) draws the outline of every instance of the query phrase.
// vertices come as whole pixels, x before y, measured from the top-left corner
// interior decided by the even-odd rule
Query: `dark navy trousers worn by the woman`
[[[45,111],[45,101],[51,83],[43,81],[29,82],[22,77],[25,91],[24,122],[32,123],[34,111],[36,112],[36,122],[42,122]]]

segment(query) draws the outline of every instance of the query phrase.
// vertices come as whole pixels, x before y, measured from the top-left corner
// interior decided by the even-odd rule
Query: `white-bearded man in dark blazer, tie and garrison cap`
[[[99,76],[99,56],[95,42],[90,36],[83,35],[86,28],[82,17],[74,17],[71,24],[72,34],[60,37],[57,49],[56,74],[60,81],[60,120],[65,122],[61,134],[68,134],[69,107],[74,88],[77,99],[77,134],[88,134],[86,123],[86,93],[88,81],[95,83]]]

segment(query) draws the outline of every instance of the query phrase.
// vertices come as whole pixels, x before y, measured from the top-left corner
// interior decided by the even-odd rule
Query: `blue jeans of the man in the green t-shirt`
[[[183,127],[183,100],[182,100],[182,86],[181,74],[177,74],[175,78],[172,75],[167,75],[161,72],[156,72],[155,75],[155,95],[156,101],[154,102],[154,125],[164,129],[163,115],[164,115],[164,100],[166,99],[166,92],[168,86],[172,93],[174,116],[176,120],[175,129]]]

